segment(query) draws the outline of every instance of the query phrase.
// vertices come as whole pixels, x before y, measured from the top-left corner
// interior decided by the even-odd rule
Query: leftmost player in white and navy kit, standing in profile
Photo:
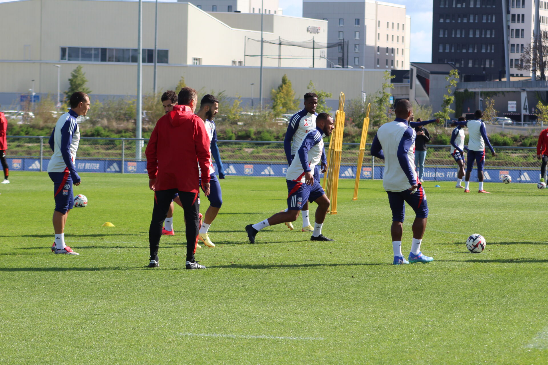
[[[52,251],[77,255],[65,244],[65,224],[68,211],[74,207],[72,184],[78,186],[82,180],[76,172],[74,161],[80,141],[80,129],[76,119],[88,113],[89,97],[77,91],[70,97],[70,110],[61,115],[49,137],[49,146],[53,155],[48,163],[48,175],[53,181],[55,210],[53,211],[53,229],[55,241]]]

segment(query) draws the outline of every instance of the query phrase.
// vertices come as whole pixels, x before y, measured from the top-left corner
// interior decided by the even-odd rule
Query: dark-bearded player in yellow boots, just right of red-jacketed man
[[[217,164],[217,171],[219,171],[219,179],[225,178],[224,169],[222,167],[221,155],[219,154],[219,147],[217,146],[217,131],[215,129],[215,123],[213,118],[219,111],[219,100],[213,95],[205,95],[200,101],[200,109],[196,115],[200,117],[204,125],[206,125],[206,131],[209,137],[209,154],[215,159]],[[208,229],[213,224],[213,221],[222,205],[221,184],[219,179],[215,175],[213,169],[213,161],[209,158],[209,207],[206,211],[206,216],[201,224],[198,234],[199,239],[204,242],[206,246],[215,247],[215,244],[209,239]]]

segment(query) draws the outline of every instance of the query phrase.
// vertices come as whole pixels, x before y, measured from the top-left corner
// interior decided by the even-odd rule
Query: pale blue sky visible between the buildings
[[[13,0],[0,0],[0,3]],[[162,0],[170,1],[170,0]],[[175,1],[175,0],[172,0]],[[284,15],[302,16],[302,1],[278,0]],[[411,16],[411,62],[432,61],[432,0],[385,0],[406,5]],[[298,39],[296,39],[298,40]]]

